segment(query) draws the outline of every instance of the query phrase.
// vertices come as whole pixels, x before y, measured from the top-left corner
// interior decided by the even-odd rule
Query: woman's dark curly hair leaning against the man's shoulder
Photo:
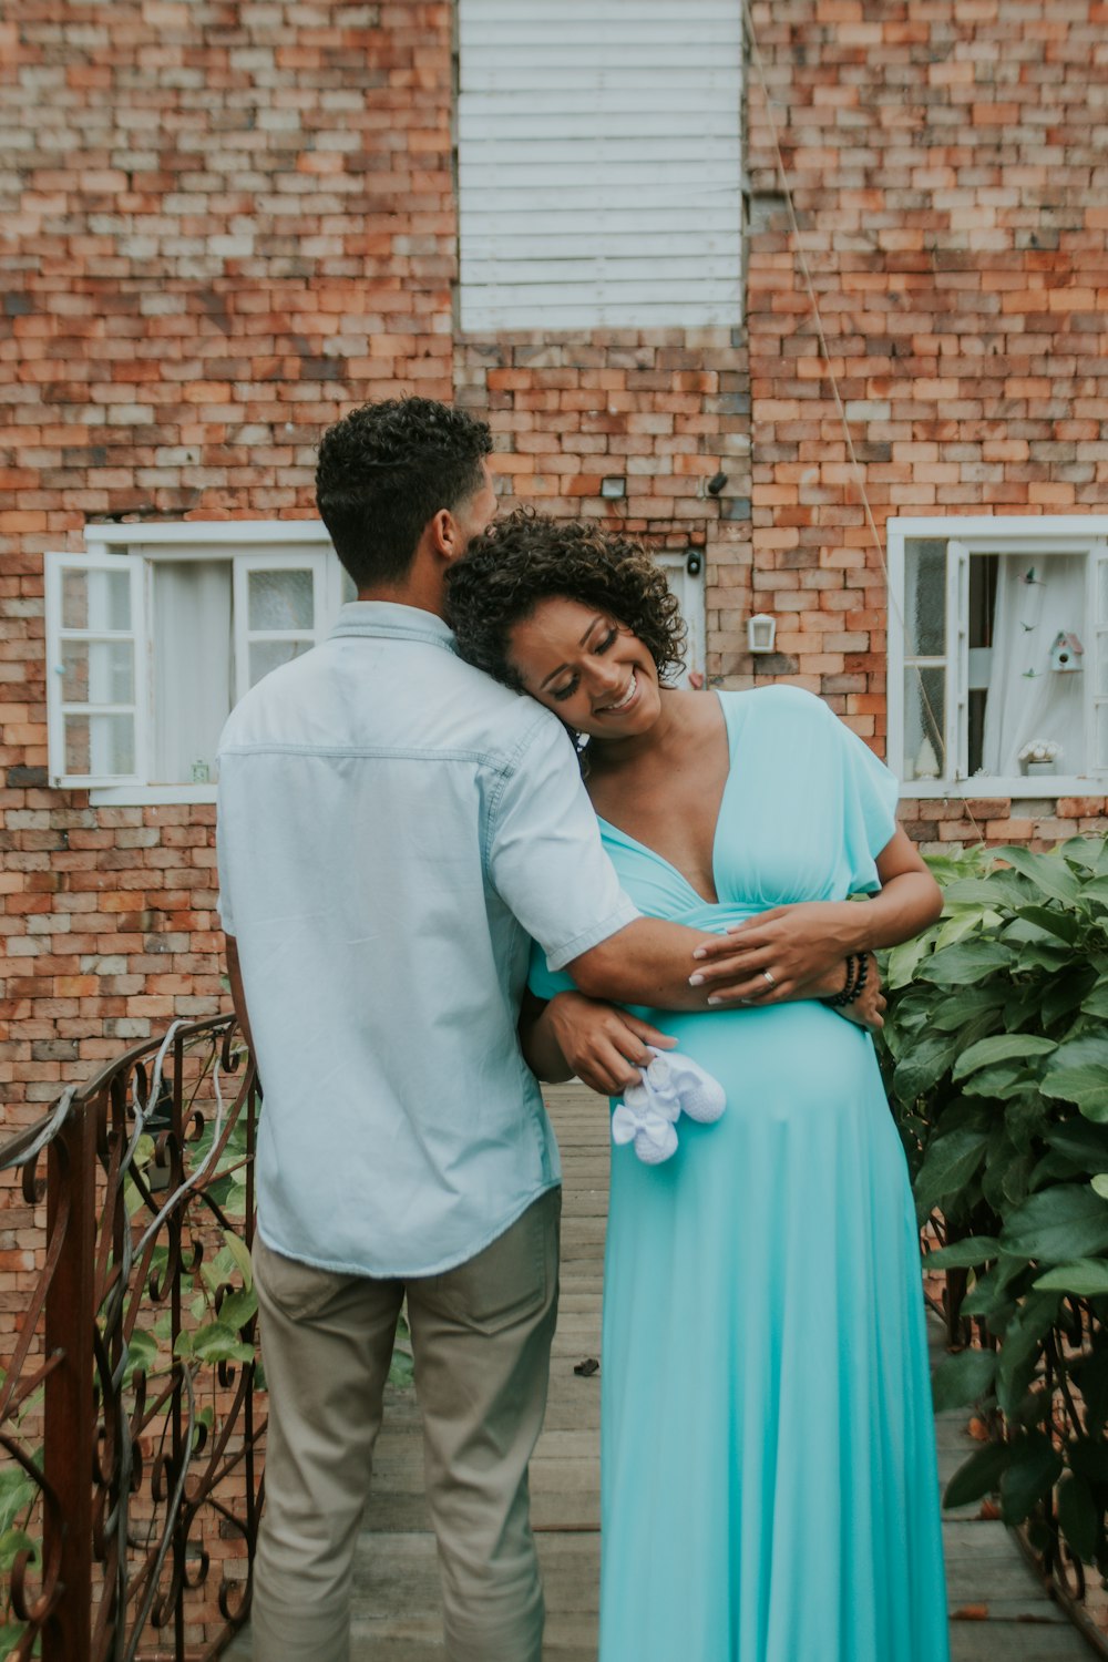
[[[666,680],[684,665],[684,622],[641,543],[591,520],[517,509],[475,537],[447,577],[447,618],[463,658],[523,691],[508,637],[540,600],[580,600],[643,642]]]

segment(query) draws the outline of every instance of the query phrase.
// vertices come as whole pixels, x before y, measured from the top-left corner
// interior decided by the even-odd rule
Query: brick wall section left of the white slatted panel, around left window
[[[0,25],[0,1100],[221,1007],[214,809],[47,789],[42,552],[314,514],[351,404],[450,397],[449,5],[28,0]]]

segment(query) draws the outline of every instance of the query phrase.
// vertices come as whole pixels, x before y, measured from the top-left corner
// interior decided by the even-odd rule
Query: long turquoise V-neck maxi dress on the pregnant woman
[[[895,781],[817,698],[723,693],[718,904],[601,821],[698,929],[879,886]],[[535,964],[532,986],[565,986]],[[676,1155],[611,1150],[601,1662],[945,1662],[919,1242],[872,1040],[819,1002],[641,1010],[724,1085]]]

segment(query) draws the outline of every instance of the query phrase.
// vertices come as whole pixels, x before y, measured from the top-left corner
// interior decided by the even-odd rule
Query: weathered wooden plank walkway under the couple
[[[608,1119],[580,1085],[552,1090],[550,1107],[565,1168],[561,1306],[547,1424],[532,1463],[532,1516],[547,1587],[545,1655],[596,1662],[600,1376],[583,1378],[573,1366],[600,1356]],[[935,1333],[935,1358],[940,1343]],[[935,1423],[944,1483],[973,1448],[965,1423],[963,1413],[940,1414]],[[944,1521],[952,1662],[993,1662],[997,1655],[1088,1662],[1086,1644],[1045,1597],[1005,1527],[978,1519],[977,1511],[965,1507]],[[359,1542],[351,1662],[444,1662],[439,1610],[419,1411],[410,1396],[394,1396]],[[249,1635],[226,1655],[249,1662]]]

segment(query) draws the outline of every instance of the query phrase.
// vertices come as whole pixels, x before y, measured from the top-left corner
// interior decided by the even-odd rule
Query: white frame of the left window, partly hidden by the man
[[[296,545],[291,547],[291,545]],[[95,808],[168,806],[214,803],[216,783],[150,784],[153,731],[153,567],[159,560],[226,558],[234,593],[236,686],[241,698],[249,685],[248,643],[266,638],[248,632],[243,600],[251,570],[302,565],[304,550],[314,572],[314,628],[304,632],[324,640],[342,607],[344,570],[321,520],[179,520],[158,525],[86,525],[85,548],[48,553],[47,570],[47,731],[50,784],[86,789]],[[131,638],[135,642],[135,773],[128,778],[65,773],[60,645],[86,632],[61,628],[60,573],[68,568],[131,572]],[[287,633],[284,635],[287,638]]]

